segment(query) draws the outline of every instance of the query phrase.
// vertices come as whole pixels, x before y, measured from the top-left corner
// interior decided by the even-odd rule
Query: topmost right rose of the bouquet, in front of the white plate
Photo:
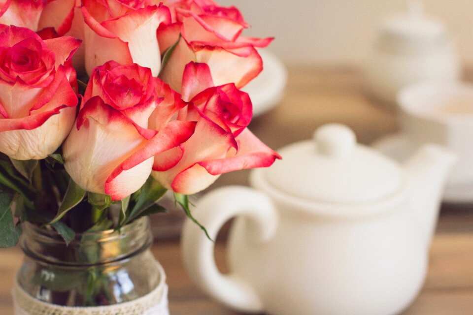
[[[170,8],[173,23],[158,29],[161,53],[178,43],[160,76],[173,89],[180,91],[189,62],[207,63],[217,86],[235,83],[241,88],[261,72],[263,62],[256,48],[268,46],[272,38],[242,36],[248,24],[238,9],[221,7],[210,0],[164,3]]]

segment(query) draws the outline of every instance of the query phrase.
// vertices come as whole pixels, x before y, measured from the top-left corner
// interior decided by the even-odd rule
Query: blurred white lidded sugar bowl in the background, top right
[[[444,25],[426,16],[418,1],[405,14],[382,24],[365,66],[367,92],[396,104],[405,86],[426,80],[456,80],[460,64],[453,41]]]

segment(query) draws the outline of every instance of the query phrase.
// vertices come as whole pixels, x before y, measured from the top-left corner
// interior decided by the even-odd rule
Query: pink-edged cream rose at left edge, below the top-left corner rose
[[[80,40],[42,40],[35,32],[0,26],[0,152],[41,159],[61,145],[75,119],[75,71]]]

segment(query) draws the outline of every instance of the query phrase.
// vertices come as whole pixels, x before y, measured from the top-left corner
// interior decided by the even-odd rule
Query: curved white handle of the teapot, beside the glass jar
[[[249,220],[252,227],[248,230],[249,236],[257,243],[269,241],[278,222],[270,199],[261,192],[242,186],[209,192],[199,200],[192,213],[212,240],[223,224],[236,216]],[[218,271],[213,255],[214,243],[191,220],[184,223],[181,250],[189,275],[212,298],[238,311],[263,311],[263,302],[249,282],[239,275],[223,275]]]

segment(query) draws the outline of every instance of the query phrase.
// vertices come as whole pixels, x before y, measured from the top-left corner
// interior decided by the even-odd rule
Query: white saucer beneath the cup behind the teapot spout
[[[402,133],[376,140],[372,143],[372,147],[399,162],[404,162],[417,149],[417,146]],[[449,203],[473,203],[473,183],[447,185],[442,200]]]

